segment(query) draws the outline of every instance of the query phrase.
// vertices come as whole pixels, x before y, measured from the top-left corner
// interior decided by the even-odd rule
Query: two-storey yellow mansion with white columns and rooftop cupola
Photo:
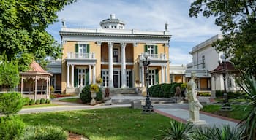
[[[95,83],[102,78],[102,86],[133,88],[135,80],[145,86],[143,54],[150,57],[149,85],[170,81],[169,40],[167,31],[127,30],[123,21],[110,15],[100,22],[101,28],[67,28],[62,21],[59,31],[63,55],[56,64],[55,75],[61,74],[61,84],[52,80],[61,93],[78,93],[78,87]],[[55,61],[56,62],[56,61]],[[58,70],[61,65],[61,70]],[[49,71],[53,70],[49,65]]]

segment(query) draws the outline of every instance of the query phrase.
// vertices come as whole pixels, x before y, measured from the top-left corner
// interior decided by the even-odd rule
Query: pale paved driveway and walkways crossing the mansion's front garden
[[[74,98],[74,97],[64,97],[64,98]],[[128,98],[128,97],[125,97]],[[129,97],[129,98],[138,98]],[[142,97],[140,97],[142,98]],[[145,97],[143,97],[145,98]],[[200,100],[208,102],[207,98],[200,98]],[[103,109],[103,108],[113,108],[113,107],[130,107],[130,104],[113,104],[105,106],[104,104],[98,104],[96,106],[89,106],[84,104],[75,104],[68,102],[61,102],[58,99],[53,99],[54,104],[61,104],[62,106],[51,106],[51,107],[40,107],[40,108],[30,108],[22,109],[18,114],[29,114],[29,113],[39,113],[39,112],[61,112],[61,111],[72,111],[72,110],[83,110],[83,109]],[[186,122],[189,119],[188,104],[153,104],[155,112],[163,114],[167,117],[173,118],[175,120]],[[200,120],[206,120],[208,126],[221,127],[222,125],[231,125],[236,127],[238,120],[228,119],[226,117],[219,117],[217,115],[208,114],[206,112],[200,112]]]

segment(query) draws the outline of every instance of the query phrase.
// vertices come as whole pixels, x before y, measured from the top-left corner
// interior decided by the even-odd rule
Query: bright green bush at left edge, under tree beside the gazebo
[[[0,86],[15,88],[20,82],[18,65],[14,63],[0,63]]]

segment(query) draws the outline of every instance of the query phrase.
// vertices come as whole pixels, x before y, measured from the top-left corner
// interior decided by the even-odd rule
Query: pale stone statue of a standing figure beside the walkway
[[[199,119],[199,110],[203,108],[197,99],[197,85],[195,83],[195,73],[191,73],[191,79],[187,83],[186,97],[189,100],[189,122],[195,125],[206,124],[204,120]]]

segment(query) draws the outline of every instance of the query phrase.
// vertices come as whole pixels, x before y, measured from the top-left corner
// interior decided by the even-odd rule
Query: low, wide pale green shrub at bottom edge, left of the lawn
[[[67,132],[55,126],[27,126],[22,140],[63,140],[67,139]]]

